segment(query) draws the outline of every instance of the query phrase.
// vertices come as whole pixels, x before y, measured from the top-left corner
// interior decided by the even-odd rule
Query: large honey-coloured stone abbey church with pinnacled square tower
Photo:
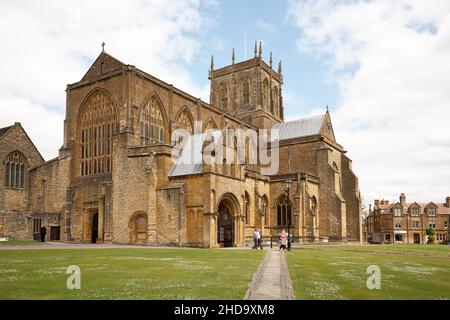
[[[57,158],[45,161],[19,122],[0,128],[0,236],[37,239],[45,226],[53,241],[214,248],[289,228],[294,243],[360,242],[358,178],[329,112],[285,122],[282,65],[261,47],[212,60],[209,78],[208,104],[103,50],[67,86]],[[276,129],[276,172],[237,155],[182,165],[198,123],[200,136]],[[189,133],[178,158],[177,129]]]

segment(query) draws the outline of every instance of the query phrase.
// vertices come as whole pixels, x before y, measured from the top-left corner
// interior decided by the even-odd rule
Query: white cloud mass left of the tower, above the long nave
[[[208,88],[193,81],[187,66],[212,24],[202,10],[216,5],[213,0],[2,1],[0,127],[23,122],[36,110],[53,120],[60,117],[66,84],[81,79],[103,41],[123,62],[207,99]],[[7,105],[11,101],[14,108]],[[61,145],[50,144],[54,136],[62,139],[62,123],[56,126],[49,135],[32,137],[46,159]]]

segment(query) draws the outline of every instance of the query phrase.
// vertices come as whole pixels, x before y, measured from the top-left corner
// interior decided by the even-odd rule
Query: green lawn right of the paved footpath
[[[308,246],[287,253],[297,299],[450,299],[450,246]],[[381,289],[367,288],[367,267]]]

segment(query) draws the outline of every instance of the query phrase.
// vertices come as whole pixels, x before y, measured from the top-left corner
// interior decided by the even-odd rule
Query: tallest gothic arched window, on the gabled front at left
[[[117,110],[104,92],[93,93],[80,117],[81,175],[112,170],[112,135],[118,124]]]

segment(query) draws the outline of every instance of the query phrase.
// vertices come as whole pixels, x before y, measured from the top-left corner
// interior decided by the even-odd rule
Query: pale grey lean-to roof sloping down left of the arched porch
[[[221,131],[214,131],[213,138],[217,142],[222,134]],[[170,169],[169,177],[181,177],[203,173],[203,142],[205,134],[196,134],[187,137],[186,143],[181,150],[180,156]]]

